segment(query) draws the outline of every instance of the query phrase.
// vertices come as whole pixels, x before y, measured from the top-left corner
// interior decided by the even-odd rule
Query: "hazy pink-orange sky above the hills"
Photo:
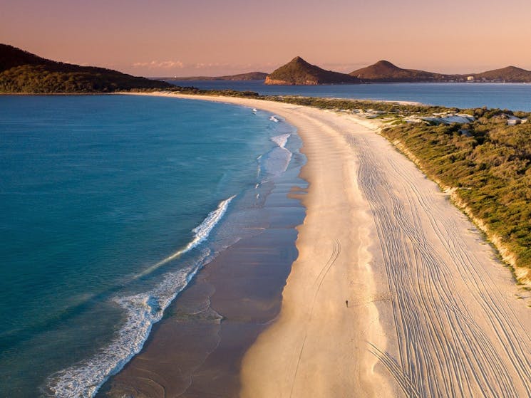
[[[0,43],[148,77],[272,72],[295,56],[349,73],[531,70],[529,0],[0,0]]]

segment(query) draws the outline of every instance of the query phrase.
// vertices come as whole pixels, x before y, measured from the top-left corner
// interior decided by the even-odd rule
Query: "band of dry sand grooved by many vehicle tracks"
[[[379,157],[370,137],[345,138],[359,159],[393,297],[398,352],[371,352],[408,397],[530,397],[530,336],[455,220],[421,194],[411,169]],[[470,298],[481,313],[469,310]]]

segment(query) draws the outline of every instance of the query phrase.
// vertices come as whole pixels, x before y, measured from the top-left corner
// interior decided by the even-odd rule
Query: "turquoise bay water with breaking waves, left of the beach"
[[[303,161],[267,112],[0,96],[0,396],[91,396]]]

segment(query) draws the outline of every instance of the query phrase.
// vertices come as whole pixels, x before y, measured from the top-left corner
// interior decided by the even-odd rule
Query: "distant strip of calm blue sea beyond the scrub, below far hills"
[[[269,95],[357,98],[415,101],[457,108],[500,108],[531,111],[531,84],[520,83],[382,83],[361,85],[264,85],[262,80],[247,82],[169,80],[197,88],[251,90]]]

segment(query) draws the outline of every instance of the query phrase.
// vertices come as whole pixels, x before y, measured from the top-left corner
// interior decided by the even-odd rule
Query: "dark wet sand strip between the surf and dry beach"
[[[269,192],[260,196],[264,204],[249,209],[236,204],[233,209],[237,219],[242,211],[250,217],[243,228],[254,232],[244,232],[197,272],[153,325],[140,353],[96,397],[237,395],[242,356],[278,315],[282,289],[297,257],[295,226],[304,219],[300,196],[307,184],[299,177],[304,156],[293,149],[299,148],[300,138],[297,132],[292,135],[297,141],[288,145],[293,151],[289,169],[261,183]],[[254,190],[245,195],[254,201]]]

